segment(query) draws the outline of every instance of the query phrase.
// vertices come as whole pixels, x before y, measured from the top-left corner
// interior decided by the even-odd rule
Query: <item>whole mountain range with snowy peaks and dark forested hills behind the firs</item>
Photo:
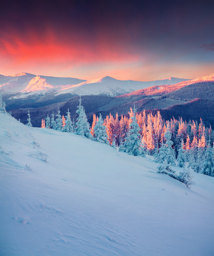
[[[202,118],[214,128],[214,74],[194,79],[166,78],[140,82],[103,77],[90,81],[76,78],[35,76],[20,73],[0,76],[0,90],[7,110],[26,123],[28,110],[33,126],[40,127],[41,119],[60,108],[76,119],[79,95],[89,122],[96,115],[127,115],[135,103],[138,112],[158,110],[163,118],[184,120]]]

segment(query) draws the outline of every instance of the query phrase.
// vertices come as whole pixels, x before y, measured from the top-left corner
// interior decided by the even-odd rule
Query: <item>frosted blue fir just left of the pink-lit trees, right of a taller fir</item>
[[[106,126],[103,125],[101,114],[98,121],[96,122],[96,125],[93,128],[93,135],[94,141],[108,144]]]

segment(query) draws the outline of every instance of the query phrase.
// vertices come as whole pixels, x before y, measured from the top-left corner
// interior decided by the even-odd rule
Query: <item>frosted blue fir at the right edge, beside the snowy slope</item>
[[[210,140],[204,154],[204,161],[202,164],[201,173],[209,176],[214,176],[214,159],[213,159],[213,151],[210,146]]]

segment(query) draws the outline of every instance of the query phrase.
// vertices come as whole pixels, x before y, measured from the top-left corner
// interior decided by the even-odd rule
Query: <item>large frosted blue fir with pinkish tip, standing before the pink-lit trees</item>
[[[141,147],[141,129],[137,123],[135,105],[131,120],[132,122],[129,125],[129,131],[126,137],[126,141],[124,141],[124,143],[119,146],[119,151],[126,152],[133,156],[143,156],[144,151]]]

